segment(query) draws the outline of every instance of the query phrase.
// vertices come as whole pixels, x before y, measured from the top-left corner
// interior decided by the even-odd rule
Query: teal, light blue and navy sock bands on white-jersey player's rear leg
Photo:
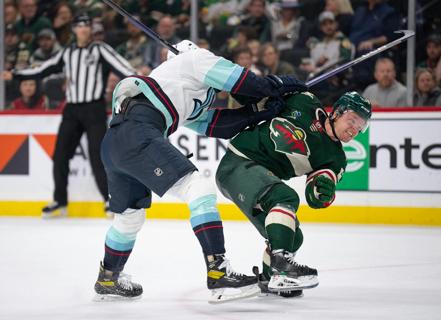
[[[112,272],[124,269],[127,259],[135,245],[136,233],[122,233],[113,226],[109,228],[105,240],[103,267]]]

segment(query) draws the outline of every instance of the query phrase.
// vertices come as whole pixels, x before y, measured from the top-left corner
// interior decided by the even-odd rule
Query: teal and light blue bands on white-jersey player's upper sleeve
[[[204,83],[216,89],[231,91],[242,71],[243,67],[221,58],[207,72]]]

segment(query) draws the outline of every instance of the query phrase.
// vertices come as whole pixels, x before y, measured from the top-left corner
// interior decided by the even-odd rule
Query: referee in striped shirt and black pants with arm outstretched
[[[101,141],[107,130],[105,88],[109,72],[114,72],[120,78],[137,72],[112,47],[101,41],[91,41],[91,23],[86,13],[77,15],[74,22],[76,42],[37,67],[2,73],[4,80],[41,79],[60,72],[67,78],[67,104],[53,155],[54,201],[41,209],[43,217],[53,216],[57,209],[60,215],[67,216],[69,160],[74,156],[85,131],[89,141],[90,164],[105,201],[106,214],[112,217],[108,209],[107,178],[100,157]]]

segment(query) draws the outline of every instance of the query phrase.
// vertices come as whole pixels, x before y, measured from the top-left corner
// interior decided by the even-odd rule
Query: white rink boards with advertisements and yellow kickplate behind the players
[[[415,111],[418,110],[418,111]],[[441,225],[441,108],[374,110],[365,134],[345,145],[348,167],[336,200],[314,210],[304,200],[305,178],[288,181],[301,199],[299,220],[315,222]],[[0,215],[38,216],[52,200],[52,154],[60,114],[0,115]],[[180,128],[169,140],[214,182],[228,141]],[[306,133],[307,143],[307,133]],[[69,215],[104,216],[82,137],[70,164]],[[218,193],[224,220],[245,216]],[[148,218],[188,219],[186,204],[153,197]]]

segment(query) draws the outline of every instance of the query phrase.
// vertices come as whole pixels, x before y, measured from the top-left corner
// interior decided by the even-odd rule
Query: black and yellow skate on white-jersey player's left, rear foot
[[[105,269],[100,263],[100,273],[95,283],[95,292],[92,301],[133,301],[141,298],[142,287],[138,283],[131,282],[131,276],[124,272],[113,272],[108,278]]]

